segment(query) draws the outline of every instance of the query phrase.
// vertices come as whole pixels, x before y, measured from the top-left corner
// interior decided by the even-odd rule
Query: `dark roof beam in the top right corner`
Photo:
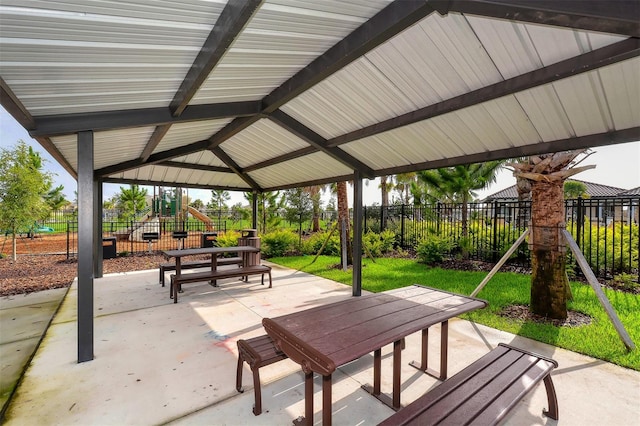
[[[591,0],[430,0],[438,13],[449,12],[640,37],[640,3]]]

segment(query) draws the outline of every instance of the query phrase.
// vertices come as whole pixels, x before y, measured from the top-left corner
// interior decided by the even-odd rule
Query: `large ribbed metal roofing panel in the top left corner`
[[[0,73],[34,116],[166,106],[223,6],[3,1]]]

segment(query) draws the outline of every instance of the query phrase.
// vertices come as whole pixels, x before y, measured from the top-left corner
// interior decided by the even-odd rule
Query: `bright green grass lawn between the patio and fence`
[[[339,263],[338,257],[320,256],[311,264],[312,260],[312,256],[269,259],[279,265],[344,284],[352,284],[351,270],[343,272],[342,269],[332,267]],[[411,284],[423,284],[469,295],[486,276],[487,272],[429,268],[410,259],[381,258],[376,259],[375,263],[370,259],[364,259],[362,288],[377,293]],[[627,351],[595,292],[588,284],[571,282],[574,300],[569,302],[569,309],[589,315],[592,318],[590,325],[556,327],[512,320],[498,315],[498,312],[506,306],[528,304],[530,284],[529,275],[499,272],[477,296],[487,300],[489,307],[464,314],[461,318],[640,371],[640,350]],[[640,345],[640,295],[609,289],[604,289],[604,292],[633,342]]]

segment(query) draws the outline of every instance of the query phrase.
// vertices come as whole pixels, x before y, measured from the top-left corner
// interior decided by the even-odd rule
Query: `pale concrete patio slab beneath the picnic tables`
[[[253,386],[245,366],[245,392],[235,390],[236,341],[264,333],[261,320],[351,297],[351,288],[272,265],[273,288],[224,280],[186,285],[180,303],[158,284],[157,271],[114,274],[95,280],[95,359],[76,358],[76,284],[47,330],[13,397],[7,425],[287,425],[304,412],[303,374],[285,360],[260,370],[263,413],[254,416]],[[412,284],[412,283],[407,283]],[[429,283],[421,283],[429,285]],[[3,309],[7,301],[3,300]],[[439,338],[434,327],[433,342]],[[438,385],[409,367],[419,359],[419,333],[403,351],[402,403]],[[450,321],[449,375],[498,343],[556,359],[553,373],[559,421],[545,418],[544,386],[529,394],[507,424],[638,424],[640,373],[459,319]],[[383,349],[383,391],[391,389],[390,347]],[[432,343],[430,356],[438,356]],[[393,411],[360,386],[372,379],[373,357],[334,374],[333,421],[373,425]],[[321,422],[316,382],[315,423]]]

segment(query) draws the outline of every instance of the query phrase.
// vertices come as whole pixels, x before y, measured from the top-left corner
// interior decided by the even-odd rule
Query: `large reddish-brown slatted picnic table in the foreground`
[[[412,285],[384,293],[350,297],[340,302],[307,309],[262,324],[276,346],[301,365],[305,373],[305,417],[294,424],[313,424],[313,374],[322,375],[322,423],[331,424],[331,375],[335,369],[374,353],[373,386],[365,387],[394,409],[400,406],[400,366],[403,339],[422,332],[422,362],[427,369],[428,329],[442,325],[440,372],[447,375],[448,320],[465,312],[486,307],[484,300],[434,288]],[[382,347],[393,343],[393,396],[380,391]]]

